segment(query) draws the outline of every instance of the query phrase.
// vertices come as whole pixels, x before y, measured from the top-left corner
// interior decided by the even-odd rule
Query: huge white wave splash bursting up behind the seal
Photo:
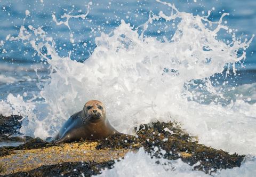
[[[41,27],[22,26],[18,37],[10,37],[28,41],[51,66],[50,79],[39,95],[44,102],[33,109],[37,118],[28,116],[29,122],[21,131],[29,130],[45,138],[58,131],[87,100],[98,99],[106,104],[107,117],[120,132],[133,134],[138,124],[177,120],[189,133],[197,135],[200,143],[255,154],[255,117],[248,116],[246,110],[237,111],[234,103],[223,107],[220,103],[188,101],[195,93],[185,89],[195,79],[204,79],[206,90],[222,96],[205,78],[221,73],[226,63],[244,60],[252,38],[242,42],[229,32],[222,25],[226,13],[212,22],[208,20],[211,11],[204,17],[194,16],[179,12],[170,3],[158,2],[171,7],[170,16],[150,13],[149,20],[138,28],[122,20],[113,33],[95,38],[97,47],[84,63],[70,60],[70,53],[69,57],[59,57],[54,39],[47,37]],[[148,25],[159,19],[180,19],[171,41],[160,42],[143,35]],[[230,43],[217,38],[220,30],[230,33]],[[241,49],[243,54],[238,55]],[[244,102],[235,104],[248,106]]]

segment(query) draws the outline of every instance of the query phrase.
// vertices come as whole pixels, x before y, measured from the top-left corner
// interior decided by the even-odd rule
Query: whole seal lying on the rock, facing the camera
[[[116,131],[108,122],[103,103],[91,100],[85,103],[82,111],[70,116],[52,141],[63,143],[81,139],[95,140],[116,134],[122,133]]]

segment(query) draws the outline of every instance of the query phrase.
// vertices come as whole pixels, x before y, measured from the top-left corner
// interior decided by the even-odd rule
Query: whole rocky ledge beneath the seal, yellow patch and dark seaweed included
[[[5,126],[5,120],[9,122],[8,126]],[[171,122],[140,125],[135,128],[135,136],[54,144],[39,138],[11,137],[11,132],[17,133],[18,130],[9,126],[13,125],[10,121],[14,123],[16,119],[0,116],[0,130],[4,130],[0,134],[4,137],[2,141],[17,139],[25,143],[0,148],[0,175],[3,176],[91,176],[99,174],[102,168],[113,167],[113,159],[119,160],[126,152],[135,152],[140,147],[157,158],[181,158],[183,162],[194,165],[194,170],[209,174],[223,168],[239,167],[245,157],[199,144],[195,137]]]

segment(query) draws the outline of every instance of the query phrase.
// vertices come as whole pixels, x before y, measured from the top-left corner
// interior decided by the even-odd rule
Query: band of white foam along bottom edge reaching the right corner
[[[212,173],[205,174],[201,171],[193,171],[193,167],[199,165],[199,162],[193,166],[183,163],[181,159],[167,160],[151,158],[143,148],[138,152],[128,152],[124,159],[114,164],[110,170],[101,170],[97,176],[253,176],[256,172],[256,158],[246,157],[241,167],[223,169]]]

